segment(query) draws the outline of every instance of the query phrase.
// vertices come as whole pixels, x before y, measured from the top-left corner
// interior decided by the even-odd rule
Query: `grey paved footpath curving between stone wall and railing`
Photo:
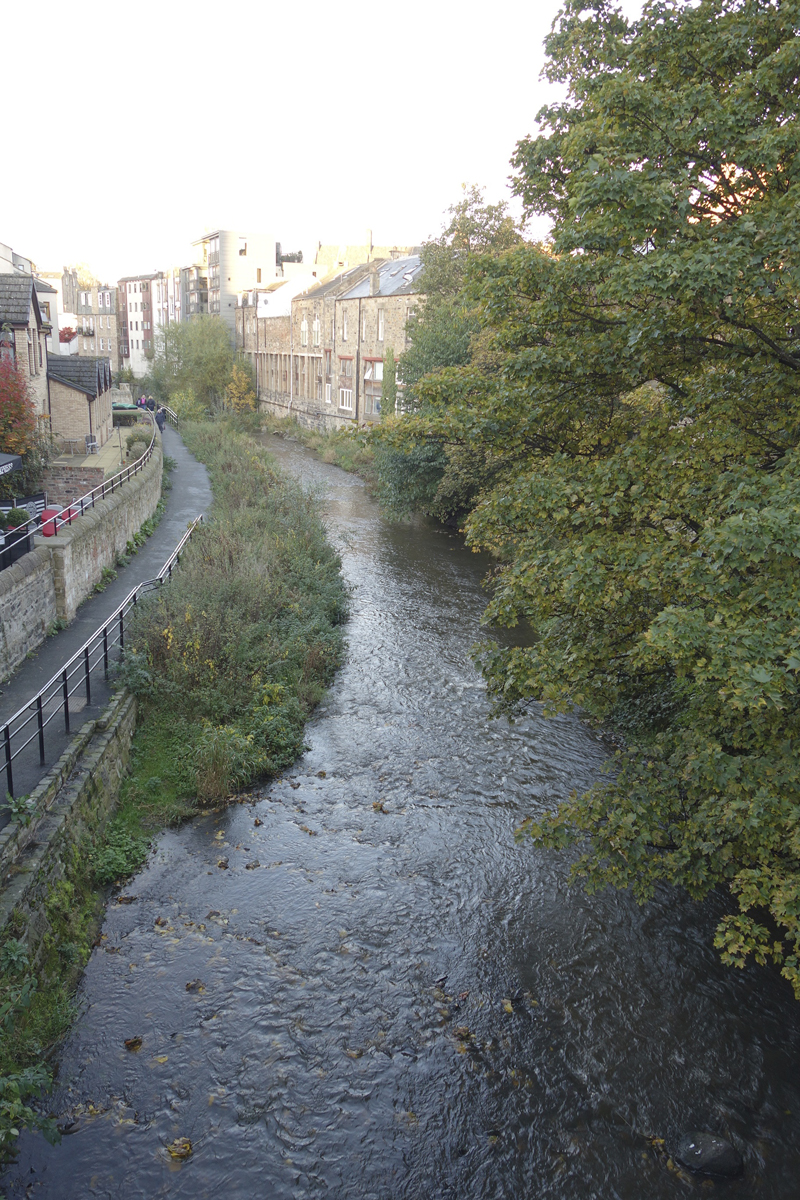
[[[169,426],[163,433],[164,455],[170,455],[178,466],[172,472],[172,490],[166,493],[167,508],[152,536],[131,558],[127,566],[119,570],[118,577],[104,592],[91,596],[78,608],[74,620],[66,629],[48,637],[38,650],[23,662],[5,684],[0,685],[0,725],[23,707],[25,701],[35,696],[40,688],[61,670],[76,650],[91,637],[106,618],[118,608],[133,588],[151,580],[158,574],[172,551],[186,533],[186,527],[200,512],[207,514],[211,506],[211,487],[203,463],[199,463],[184,445],[180,436]],[[92,704],[84,712],[76,713],[73,730],[84,721],[98,716],[109,698],[104,686],[95,685],[92,677]],[[44,772],[56,761],[67,745],[67,738],[58,733],[58,721],[48,728],[47,764],[38,766],[38,754],[29,764],[14,763],[14,793],[30,792]],[[53,730],[53,736],[50,736]],[[0,796],[5,793],[5,779],[0,780]],[[0,817],[0,823],[2,820]]]

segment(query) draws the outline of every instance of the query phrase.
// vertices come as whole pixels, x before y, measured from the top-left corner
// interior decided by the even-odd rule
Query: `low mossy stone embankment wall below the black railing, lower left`
[[[116,806],[131,761],[136,700],[121,692],[97,721],[88,721],[28,802],[28,826],[0,830],[0,932],[22,918],[35,961],[49,931],[47,900],[70,876],[76,856],[96,842]]]

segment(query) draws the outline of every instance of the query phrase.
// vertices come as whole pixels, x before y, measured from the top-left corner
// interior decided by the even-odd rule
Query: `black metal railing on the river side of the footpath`
[[[82,702],[80,708],[83,709],[86,704],[91,704],[92,673],[102,668],[103,677],[108,678],[112,660],[115,659],[119,661],[122,658],[126,623],[130,624],[130,618],[136,610],[137,601],[145,593],[161,588],[164,583],[169,582],[173,569],[180,563],[184,548],[201,522],[201,515],[194,518],[158,575],[154,580],[145,580],[144,583],[139,583],[133,588],[119,608],[84,642],[79,650],[76,650],[70,661],[53,676],[41,691],[18,709],[5,725],[0,726],[0,745],[2,746],[5,758],[6,787],[12,798],[14,794],[14,760],[31,743],[38,740],[40,766],[47,766],[44,734],[48,725],[61,715],[64,718],[64,732],[66,734],[70,733],[70,697],[82,691],[85,695],[85,703]]]

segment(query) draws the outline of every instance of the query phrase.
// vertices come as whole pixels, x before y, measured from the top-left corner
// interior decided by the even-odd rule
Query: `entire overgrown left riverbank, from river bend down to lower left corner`
[[[0,946],[0,1150],[37,1124],[23,1103],[74,1019],[108,884],[155,833],[287,767],[339,662],[347,598],[315,502],[227,422],[187,426],[211,521],[170,586],[142,605],[122,682],[137,695],[132,773],[101,836],[86,838],[46,904],[36,961],[25,929]],[[22,1093],[22,1094],[20,1094]]]

